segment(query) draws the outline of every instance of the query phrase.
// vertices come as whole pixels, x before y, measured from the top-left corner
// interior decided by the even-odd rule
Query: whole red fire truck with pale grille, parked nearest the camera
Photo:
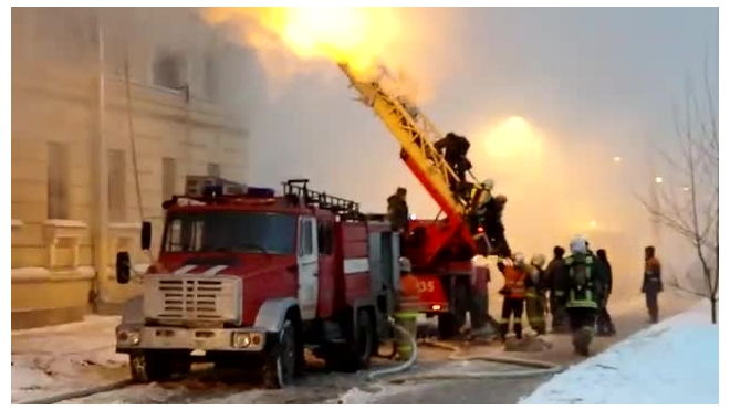
[[[260,372],[264,386],[279,388],[303,371],[304,348],[355,371],[393,340],[399,235],[357,203],[306,180],[284,182],[278,196],[187,177],[186,195],[163,208],[159,257],[116,329],[116,351],[128,355],[135,380],[206,361]],[[150,241],[144,222],[148,254]],[[131,266],[119,252],[117,282],[129,282]]]

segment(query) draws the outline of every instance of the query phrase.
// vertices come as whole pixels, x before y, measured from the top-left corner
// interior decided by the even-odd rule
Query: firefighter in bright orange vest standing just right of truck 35
[[[503,259],[497,264],[497,267],[504,275],[504,286],[499,293],[504,296],[502,302],[502,317],[499,323],[499,333],[502,341],[507,340],[507,333],[510,328],[510,318],[514,336],[522,339],[522,309],[524,308],[524,281],[526,272],[524,271],[524,256],[515,253],[512,259]]]

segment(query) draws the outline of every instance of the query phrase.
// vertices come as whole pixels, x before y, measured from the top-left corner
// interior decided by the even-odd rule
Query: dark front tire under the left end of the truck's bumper
[[[140,351],[129,355],[129,371],[137,382],[161,381],[173,374],[190,371],[190,359],[176,357],[165,351]]]

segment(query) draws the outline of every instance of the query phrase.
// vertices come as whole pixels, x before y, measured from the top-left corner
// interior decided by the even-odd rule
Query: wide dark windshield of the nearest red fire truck
[[[293,254],[296,217],[272,212],[171,212],[163,252]]]

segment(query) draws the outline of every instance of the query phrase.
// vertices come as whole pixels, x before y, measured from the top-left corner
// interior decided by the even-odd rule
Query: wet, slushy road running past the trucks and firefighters
[[[665,296],[661,299],[663,315],[679,313],[693,304],[691,299]],[[648,326],[643,301],[634,299],[616,304],[613,309],[614,323],[618,334],[613,337],[597,338],[593,345],[594,354],[622,340]],[[465,346],[467,354],[500,354],[501,356],[539,359],[570,365],[582,358],[573,354],[567,335],[549,335],[546,340],[552,347],[542,351],[504,351],[501,344],[487,346]],[[517,367],[511,365],[483,361],[450,361],[450,351],[434,348],[419,348],[418,367],[409,374],[428,371],[502,371]],[[393,366],[386,360],[376,360],[374,368]],[[434,403],[434,404],[484,404],[515,403],[529,395],[549,377],[520,379],[479,379],[479,380],[436,380],[414,381],[400,385],[386,381],[369,382],[367,372],[354,375],[330,374],[316,370],[284,390],[262,390],[239,377],[229,378],[220,372],[202,372],[178,382],[137,385],[121,390],[98,393],[63,403],[324,403],[324,402],[369,402],[369,403]],[[371,369],[372,370],[372,369]],[[356,388],[357,390],[353,390]],[[348,399],[342,399],[342,395]],[[357,396],[357,397],[353,397]]]

